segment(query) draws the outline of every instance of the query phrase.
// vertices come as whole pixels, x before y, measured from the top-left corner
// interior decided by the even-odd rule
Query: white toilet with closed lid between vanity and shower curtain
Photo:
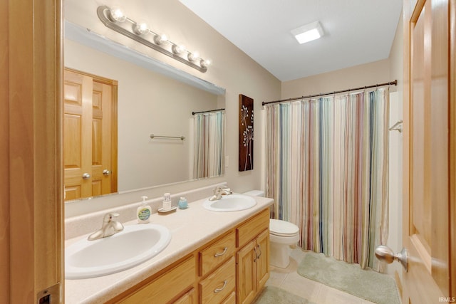
[[[260,190],[252,190],[244,194],[252,196],[264,196]],[[290,263],[290,246],[299,241],[299,227],[288,221],[269,219],[269,242],[271,254],[269,263],[271,266],[286,268]]]

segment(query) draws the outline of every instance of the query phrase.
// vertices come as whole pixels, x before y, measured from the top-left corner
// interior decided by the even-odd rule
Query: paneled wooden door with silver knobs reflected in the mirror
[[[66,200],[117,192],[117,82],[65,70]]]

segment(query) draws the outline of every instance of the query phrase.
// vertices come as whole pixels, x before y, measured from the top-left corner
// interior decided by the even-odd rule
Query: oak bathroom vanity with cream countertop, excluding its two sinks
[[[167,248],[126,271],[66,280],[66,303],[251,303],[269,278],[273,203],[255,199],[242,211],[209,211],[203,199],[172,214],[153,214],[151,222],[172,233]]]

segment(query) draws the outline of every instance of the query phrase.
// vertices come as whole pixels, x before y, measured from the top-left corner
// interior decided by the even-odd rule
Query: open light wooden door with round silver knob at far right
[[[456,134],[450,122],[456,117],[450,103],[454,96],[449,95],[455,87],[449,75],[450,1],[404,4],[404,159],[408,162],[403,243],[409,258],[408,272],[403,272],[403,303],[454,302],[455,283],[450,278],[455,258],[450,253],[455,199],[450,192],[454,184],[450,164],[454,166],[456,157],[450,139]]]

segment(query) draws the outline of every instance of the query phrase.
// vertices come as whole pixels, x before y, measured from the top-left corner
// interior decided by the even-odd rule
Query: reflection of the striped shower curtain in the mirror
[[[224,111],[194,115],[194,179],[224,174],[224,117]]]

